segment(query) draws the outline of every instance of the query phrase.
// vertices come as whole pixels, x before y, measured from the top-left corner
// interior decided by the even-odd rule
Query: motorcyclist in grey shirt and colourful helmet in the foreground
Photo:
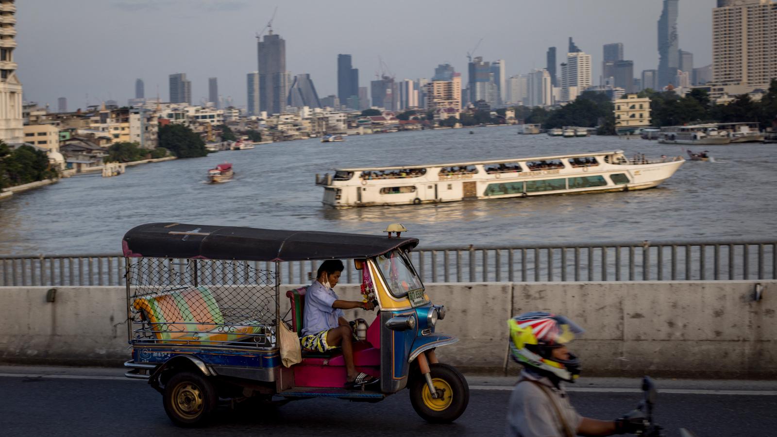
[[[613,435],[644,428],[641,414],[615,421],[600,421],[577,414],[563,383],[580,375],[580,360],[566,347],[583,330],[552,313],[524,313],[507,320],[510,354],[524,366],[507,411],[507,435],[520,437],[573,437]]]

